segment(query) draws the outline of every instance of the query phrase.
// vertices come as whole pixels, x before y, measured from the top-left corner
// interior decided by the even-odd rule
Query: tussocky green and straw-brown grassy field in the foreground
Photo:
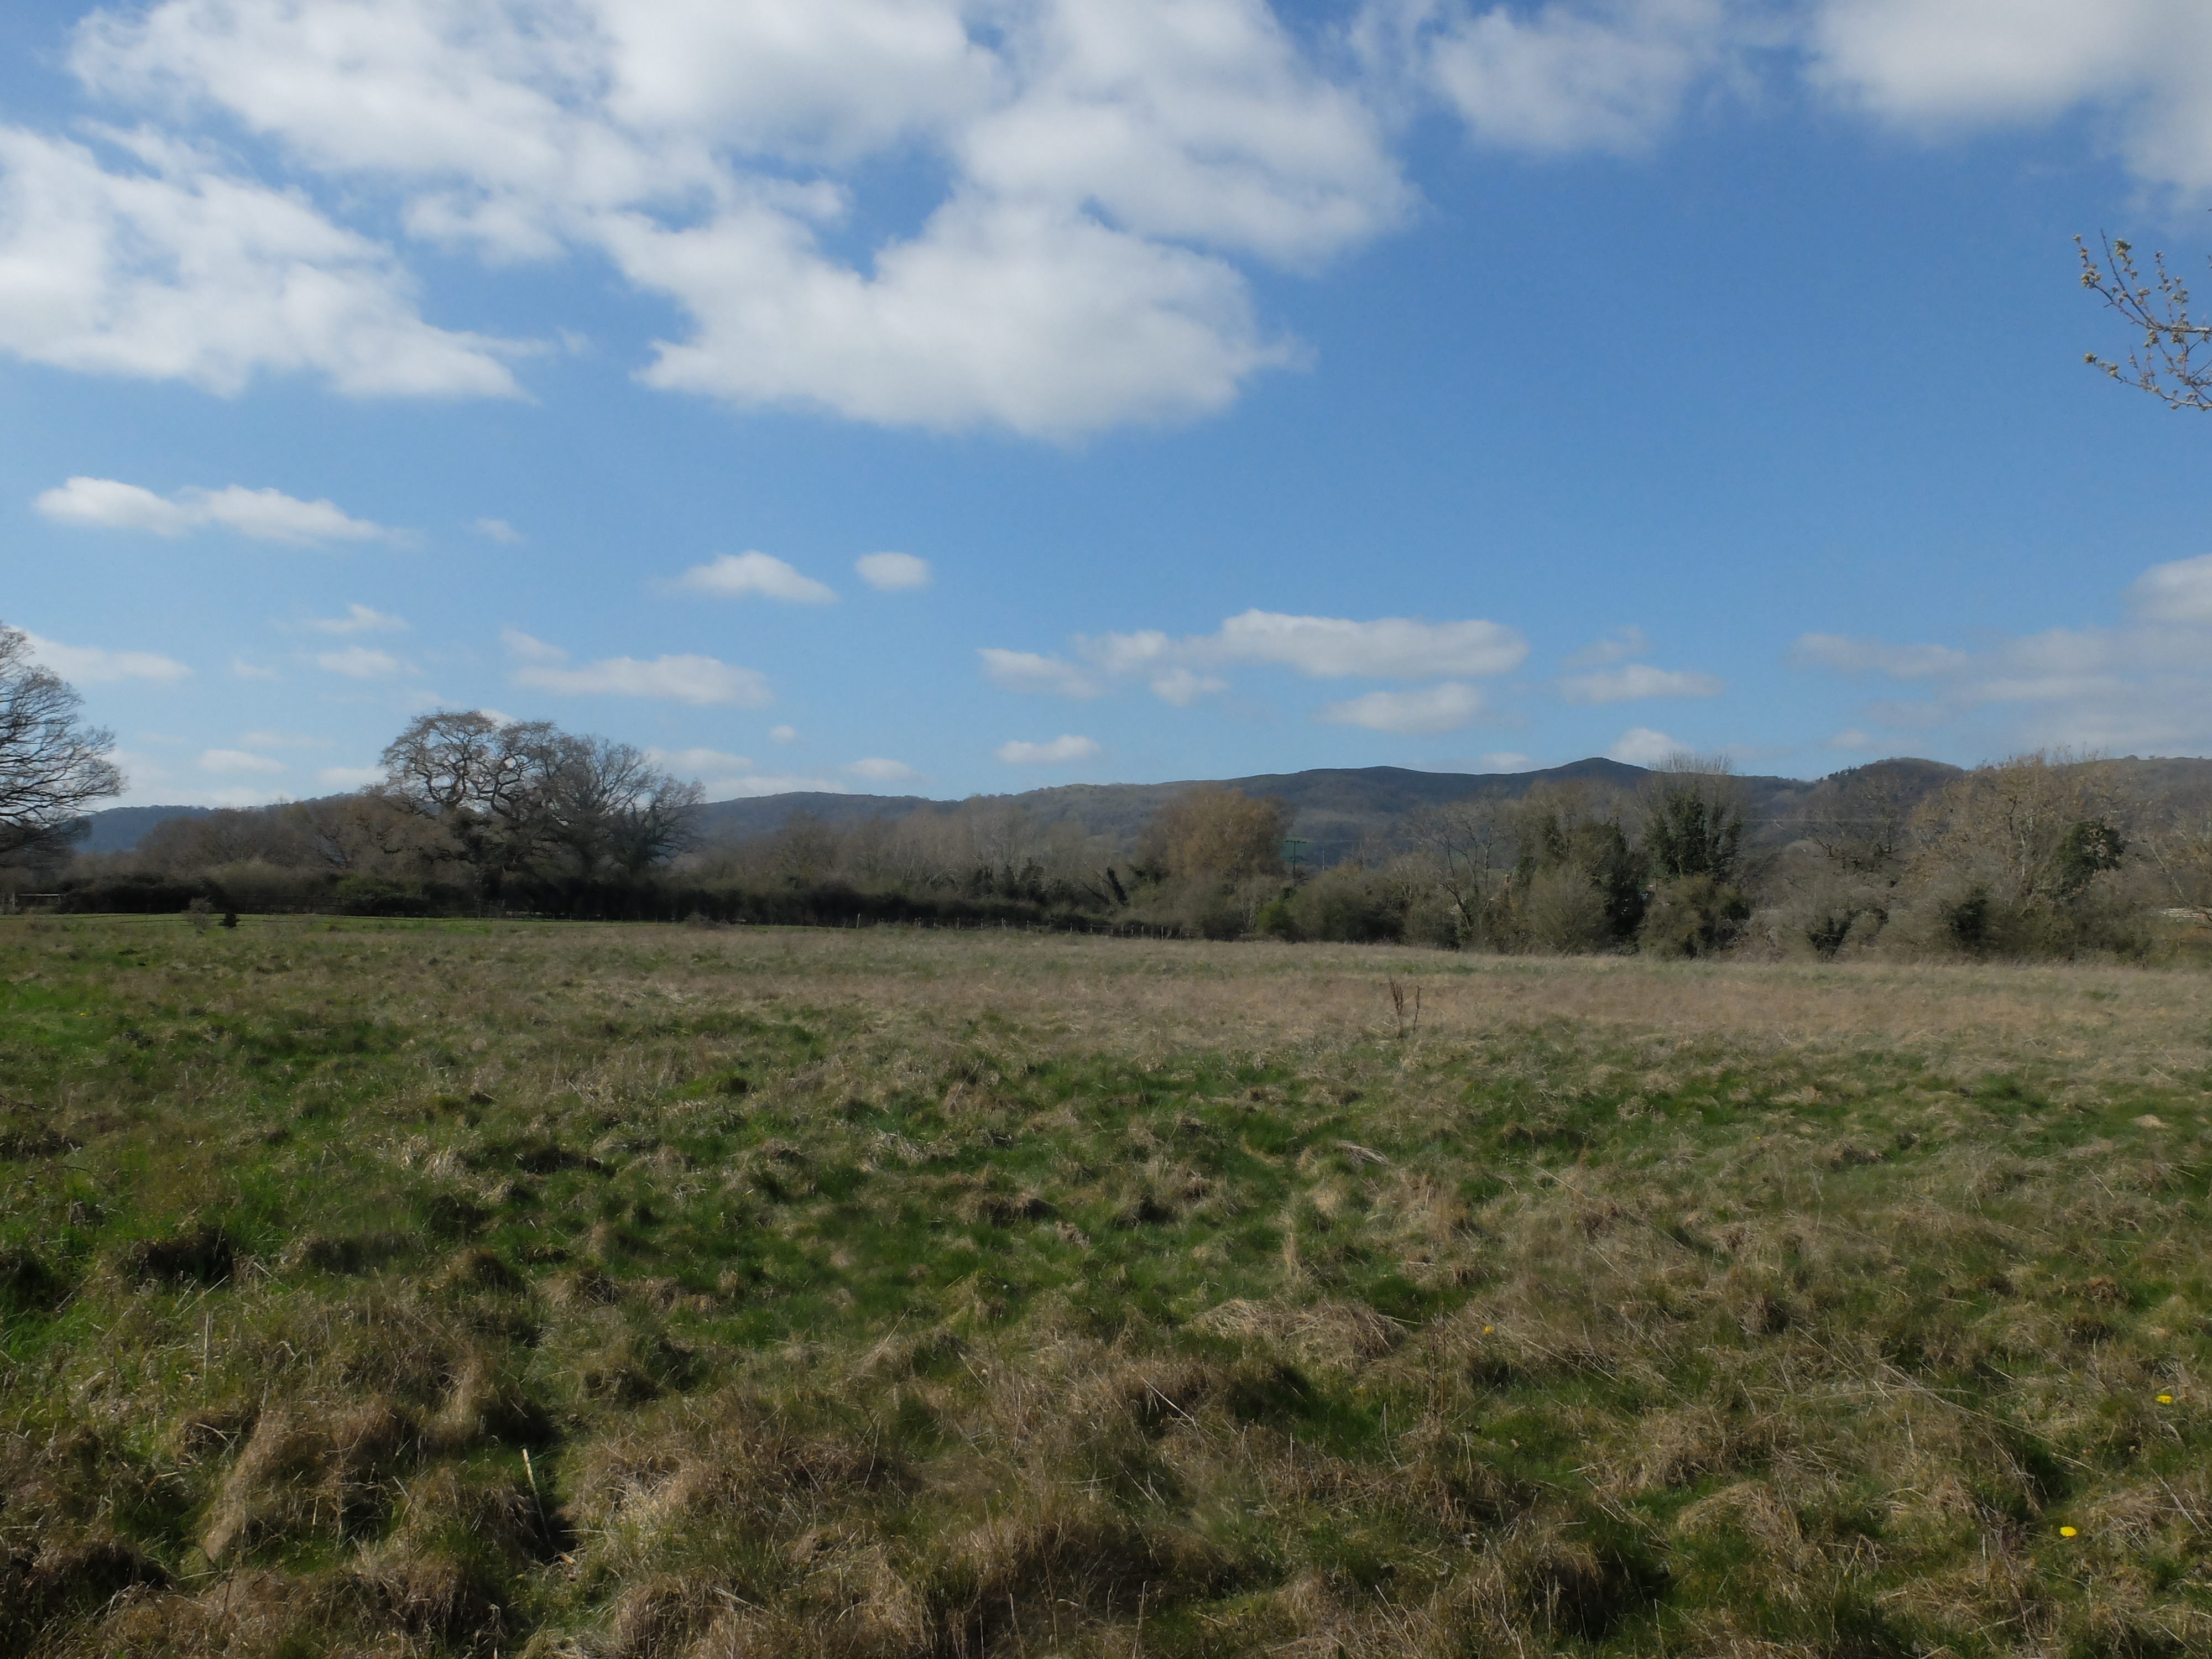
[[[2208,1652],[2208,1088],[2197,973],[7,920],[0,1650]]]

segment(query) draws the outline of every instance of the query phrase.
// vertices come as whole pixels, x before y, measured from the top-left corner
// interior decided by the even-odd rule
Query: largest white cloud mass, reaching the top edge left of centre
[[[604,252],[688,314],[653,385],[889,425],[1221,409],[1298,358],[1232,261],[1314,265],[1413,204],[1363,91],[1256,0],[166,0],[73,62],[396,190],[416,237]],[[852,181],[916,150],[936,210],[845,250]]]

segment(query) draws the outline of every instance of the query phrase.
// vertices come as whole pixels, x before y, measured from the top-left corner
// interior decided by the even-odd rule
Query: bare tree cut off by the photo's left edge
[[[31,639],[0,622],[0,858],[66,852],[91,801],[122,794],[115,734],[80,726],[82,701],[31,661]]]

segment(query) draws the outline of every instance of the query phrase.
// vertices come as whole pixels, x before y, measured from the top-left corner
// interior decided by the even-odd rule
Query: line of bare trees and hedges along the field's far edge
[[[1133,838],[975,799],[708,841],[701,790],[549,721],[422,714],[345,796],[155,825],[82,854],[113,737],[0,626],[0,891],[66,909],[1022,922],[1482,951],[2143,958],[2212,929],[2212,787],[2022,754],[1876,763],[1754,821],[1725,763],[1635,790],[1498,785],[1310,867],[1294,812],[1221,785]],[[1938,772],[1938,776],[1929,776]],[[13,874],[11,874],[13,872]]]

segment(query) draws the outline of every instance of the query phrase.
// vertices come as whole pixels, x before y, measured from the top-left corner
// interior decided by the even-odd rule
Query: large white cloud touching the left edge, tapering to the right
[[[0,126],[0,352],[241,392],[314,372],[356,396],[513,396],[500,343],[431,327],[378,243],[153,135],[128,161]]]

